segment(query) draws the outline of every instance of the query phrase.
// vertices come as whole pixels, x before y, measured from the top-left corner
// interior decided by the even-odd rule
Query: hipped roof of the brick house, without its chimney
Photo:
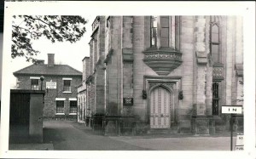
[[[82,76],[81,71],[75,70],[69,65],[54,65],[48,66],[44,64],[30,65],[19,71],[14,72],[15,76],[18,75],[33,75],[33,76],[73,76],[80,77]]]

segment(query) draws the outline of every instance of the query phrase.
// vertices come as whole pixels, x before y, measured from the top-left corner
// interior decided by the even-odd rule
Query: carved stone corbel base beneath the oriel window
[[[183,63],[182,54],[173,48],[148,48],[144,63],[158,75],[166,76]]]

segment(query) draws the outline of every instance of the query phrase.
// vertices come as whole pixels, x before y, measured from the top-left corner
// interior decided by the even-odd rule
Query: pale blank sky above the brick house
[[[70,65],[74,69],[78,71],[83,70],[82,60],[85,56],[90,55],[90,35],[91,35],[91,24],[93,20],[95,20],[96,16],[92,15],[82,15],[85,20],[88,20],[86,24],[86,32],[84,36],[77,43],[69,43],[69,42],[55,42],[51,43],[45,37],[41,37],[38,40],[32,42],[32,47],[41,53],[38,54],[38,60],[44,60],[44,64],[48,63],[47,54],[55,54],[55,64],[61,65]],[[32,65],[32,62],[26,62],[26,58],[24,57],[16,57],[11,60],[11,70],[19,71],[20,69]],[[16,77],[12,76],[11,79],[11,88],[15,88],[16,85]]]

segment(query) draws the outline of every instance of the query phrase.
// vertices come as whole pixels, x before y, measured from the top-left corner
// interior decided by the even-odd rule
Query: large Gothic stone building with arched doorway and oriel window
[[[85,81],[92,128],[229,131],[221,107],[242,105],[242,17],[97,16],[92,30]],[[235,123],[242,131],[243,118]]]

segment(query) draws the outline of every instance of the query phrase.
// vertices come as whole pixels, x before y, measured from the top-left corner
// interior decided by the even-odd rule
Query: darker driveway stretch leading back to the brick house
[[[71,121],[44,121],[44,143],[52,143],[54,150],[149,150],[94,134]]]

